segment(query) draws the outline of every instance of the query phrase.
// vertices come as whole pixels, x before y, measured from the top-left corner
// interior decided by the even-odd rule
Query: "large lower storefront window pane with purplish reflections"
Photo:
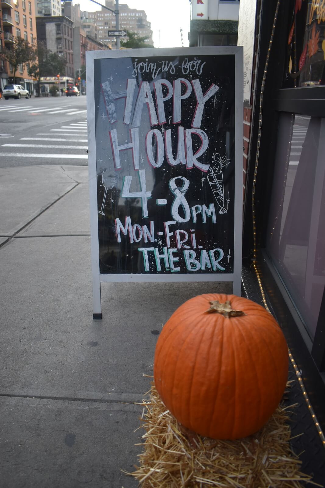
[[[311,338],[325,284],[325,119],[282,113],[267,250]]]

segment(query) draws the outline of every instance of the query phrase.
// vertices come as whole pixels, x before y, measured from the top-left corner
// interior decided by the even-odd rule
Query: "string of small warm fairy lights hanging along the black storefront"
[[[262,130],[262,107],[263,107],[263,94],[264,94],[264,86],[265,86],[265,80],[266,80],[266,75],[267,75],[267,71],[268,71],[268,61],[269,61],[269,57],[270,57],[270,51],[271,51],[271,47],[272,47],[272,42],[273,42],[273,37],[274,37],[274,31],[275,31],[275,25],[276,25],[276,21],[277,21],[277,18],[278,18],[278,13],[279,13],[279,7],[280,7],[280,3],[281,3],[281,0],[278,0],[277,1],[277,4],[276,4],[276,9],[275,9],[275,14],[274,14],[274,20],[273,20],[273,27],[272,27],[272,32],[271,32],[271,37],[270,37],[270,41],[269,41],[269,45],[268,45],[268,53],[267,53],[267,59],[266,59],[266,62],[265,62],[265,67],[264,67],[264,73],[263,73],[263,80],[262,80],[262,84],[261,84],[261,94],[260,94],[260,109],[259,109],[259,122],[258,122],[258,137],[257,137],[257,147],[256,147],[256,159],[255,159],[255,168],[254,168],[254,176],[253,176],[253,187],[252,187],[252,219],[253,219],[253,267],[254,267],[254,271],[256,273],[256,277],[257,277],[257,281],[258,281],[258,285],[259,285],[259,288],[261,290],[261,294],[262,294],[262,300],[263,300],[263,304],[265,306],[265,308],[267,309],[267,311],[269,313],[270,310],[268,308],[268,304],[267,304],[267,301],[266,301],[266,297],[265,297],[265,293],[264,293],[264,288],[263,288],[263,284],[262,284],[262,280],[261,280],[261,277],[260,277],[260,274],[258,272],[258,269],[257,269],[257,260],[256,260],[256,251],[257,251],[257,243],[256,243],[256,220],[255,220],[255,187],[256,187],[256,175],[257,175],[257,168],[258,168],[258,160],[259,160],[259,152],[260,152],[260,142],[261,142],[261,130]],[[317,417],[316,417],[316,414],[315,414],[315,411],[309,401],[309,398],[308,398],[308,394],[306,392],[306,388],[305,388],[305,385],[304,385],[304,382],[303,382],[303,379],[302,379],[302,373],[301,371],[299,371],[298,369],[298,366],[291,354],[291,351],[290,349],[288,348],[288,355],[289,355],[289,359],[291,361],[291,364],[293,366],[293,369],[296,373],[296,376],[297,376],[297,379],[298,379],[298,383],[301,387],[301,390],[303,392],[303,395],[304,395],[304,398],[305,398],[305,402],[306,402],[306,405],[308,407],[308,410],[310,412],[310,415],[313,419],[313,422],[317,428],[317,432],[321,438],[321,441],[322,441],[322,444],[323,446],[325,447],[325,436],[324,436],[324,433],[322,431],[322,428],[320,427],[319,425],[319,422],[317,420]]]

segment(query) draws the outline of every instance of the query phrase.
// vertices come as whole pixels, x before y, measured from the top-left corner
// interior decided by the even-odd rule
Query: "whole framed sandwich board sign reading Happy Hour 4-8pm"
[[[94,318],[101,282],[241,293],[243,48],[86,52]]]

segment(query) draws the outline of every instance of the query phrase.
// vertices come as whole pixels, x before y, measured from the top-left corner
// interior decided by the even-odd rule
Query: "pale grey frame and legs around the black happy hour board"
[[[95,80],[94,60],[112,58],[143,58],[161,56],[232,55],[235,66],[235,173],[234,173],[234,247],[233,273],[182,273],[182,274],[100,274],[98,242],[98,204],[96,170]],[[243,47],[190,47],[123,49],[86,52],[87,118],[88,118],[88,166],[90,195],[91,261],[93,277],[94,318],[101,318],[101,282],[208,282],[233,283],[233,293],[241,294],[242,267],[242,202],[243,202]]]

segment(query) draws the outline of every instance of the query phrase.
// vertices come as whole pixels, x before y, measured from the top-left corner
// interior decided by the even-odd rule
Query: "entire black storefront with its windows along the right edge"
[[[321,8],[323,5],[323,8]],[[261,1],[243,256],[252,257],[269,304],[325,428],[325,2]],[[268,51],[277,6],[279,12]],[[261,130],[260,94],[267,54]]]

